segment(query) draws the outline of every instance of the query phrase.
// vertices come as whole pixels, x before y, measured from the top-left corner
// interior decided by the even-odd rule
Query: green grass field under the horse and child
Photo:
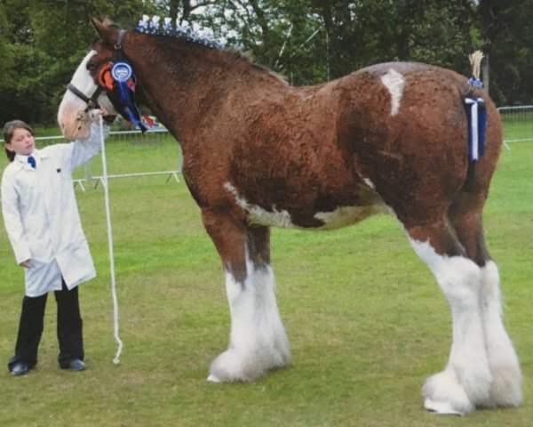
[[[109,173],[171,170],[176,146],[107,144]],[[4,162],[4,163],[2,163]],[[3,168],[4,159],[0,162]],[[2,426],[509,426],[533,419],[533,144],[504,149],[485,210],[521,357],[524,404],[466,418],[426,413],[420,388],[448,359],[450,314],[432,274],[387,216],[330,232],[273,230],[273,265],[293,362],[256,383],[207,383],[227,346],[229,313],[218,254],[183,182],[110,181],[124,342],[112,362],[113,310],[103,189],[76,188],[99,275],[80,288],[88,369],[57,367],[49,299],[39,363],[0,370]],[[98,174],[98,161],[93,172]],[[23,295],[0,230],[0,361],[12,356]]]

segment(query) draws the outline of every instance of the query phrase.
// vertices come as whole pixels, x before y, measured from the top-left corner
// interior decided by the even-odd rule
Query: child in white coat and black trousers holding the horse
[[[34,132],[24,122],[13,120],[4,126],[5,151],[12,163],[2,178],[2,212],[26,279],[15,355],[8,363],[15,376],[26,375],[36,366],[49,291],[54,291],[58,305],[60,368],[85,369],[77,286],[96,272],[77,210],[72,173],[100,149],[97,121],[107,111],[91,113],[95,123],[89,139],[44,149],[36,149]]]

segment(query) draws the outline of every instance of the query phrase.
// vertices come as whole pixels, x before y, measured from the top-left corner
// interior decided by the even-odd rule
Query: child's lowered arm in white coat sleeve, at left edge
[[[20,219],[19,197],[14,188],[11,173],[4,173],[2,178],[2,214],[7,236],[13,247],[17,264],[31,258],[28,245],[24,239],[24,228]]]

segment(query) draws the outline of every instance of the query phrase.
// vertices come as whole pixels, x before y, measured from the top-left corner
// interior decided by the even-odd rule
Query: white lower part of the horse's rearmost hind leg
[[[481,310],[489,367],[493,382],[489,399],[482,407],[518,407],[521,405],[521,370],[513,343],[505,332],[502,321],[499,274],[494,262],[481,268]]]

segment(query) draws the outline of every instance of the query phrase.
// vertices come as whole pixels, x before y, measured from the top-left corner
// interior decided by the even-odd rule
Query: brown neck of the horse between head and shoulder
[[[183,41],[138,37],[139,45],[127,56],[134,65],[143,101],[182,144],[228,91],[238,96],[251,85],[265,85],[262,80],[268,78],[267,71],[231,53]],[[232,84],[244,75],[247,88]]]

